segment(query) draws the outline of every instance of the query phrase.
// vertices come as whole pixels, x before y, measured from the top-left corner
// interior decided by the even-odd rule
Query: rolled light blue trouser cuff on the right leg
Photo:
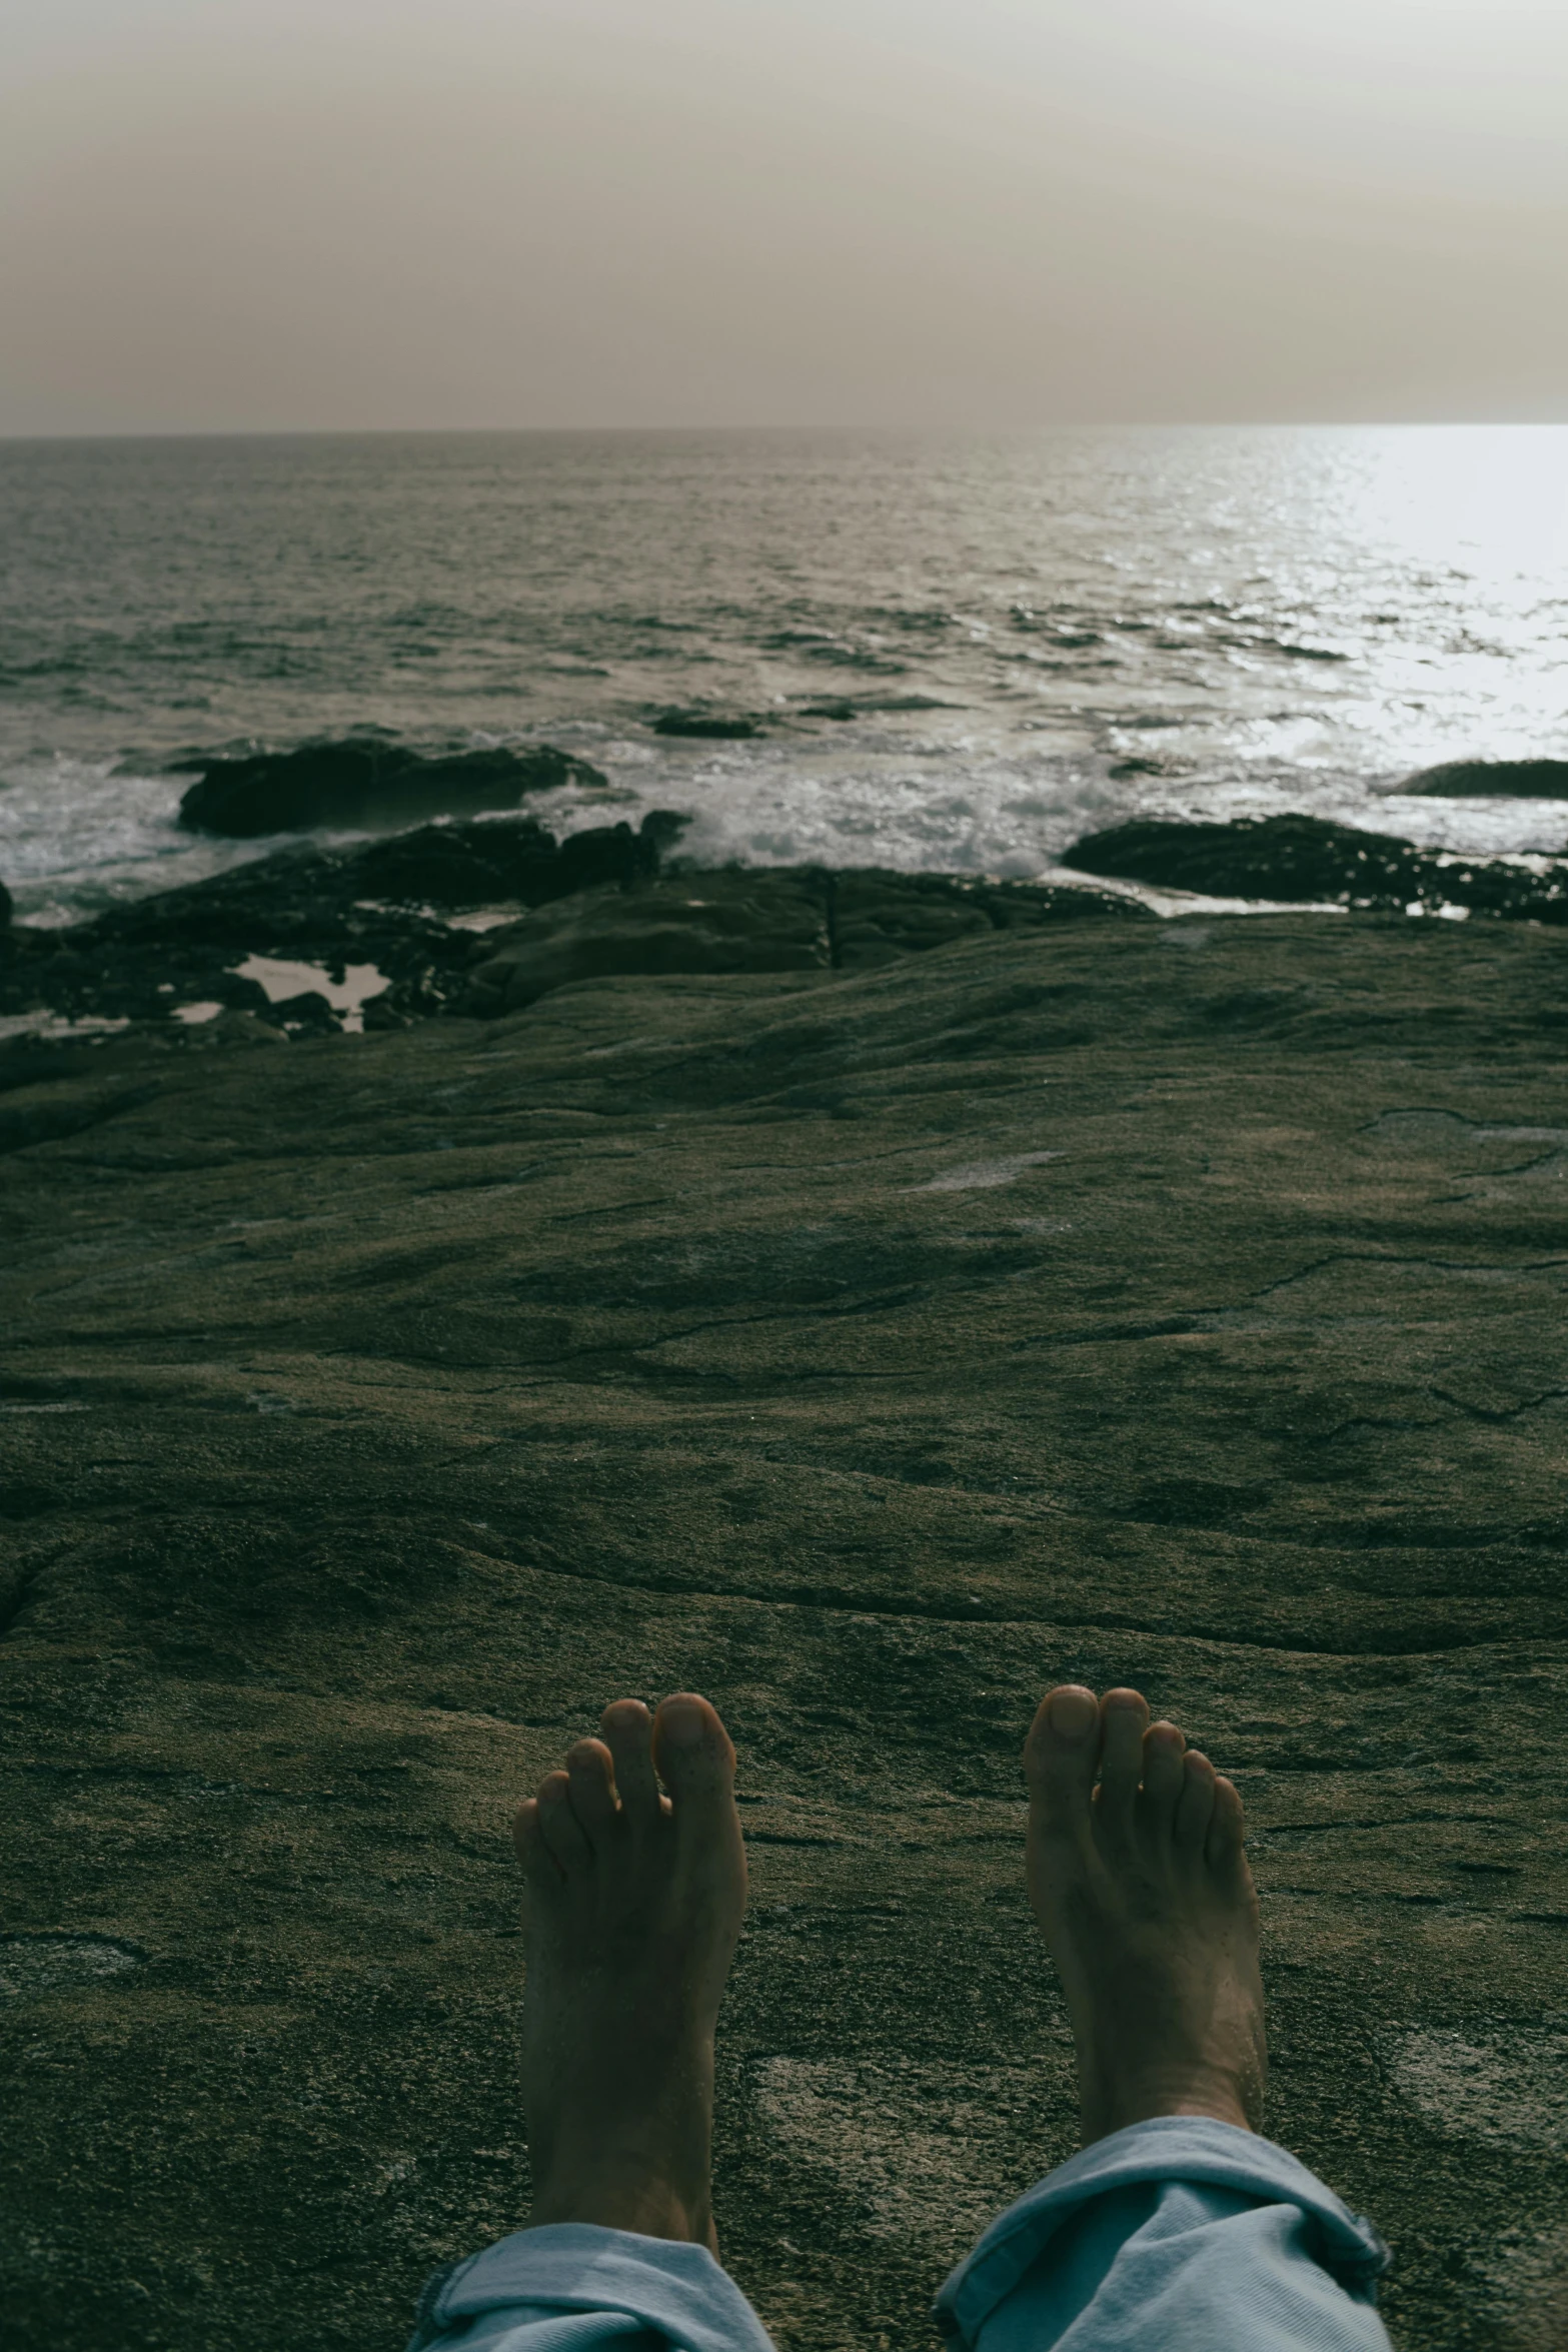
[[[933,2317],[954,2352],[1389,2352],[1373,2307],[1387,2263],[1288,2150],[1161,2114],[1009,2206]]]

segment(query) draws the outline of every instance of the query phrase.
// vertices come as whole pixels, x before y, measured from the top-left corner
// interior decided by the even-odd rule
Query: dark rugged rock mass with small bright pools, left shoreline
[[[686,818],[590,826],[557,842],[531,816],[421,826],[355,849],[280,849],[230,873],[108,908],[66,931],[16,931],[0,1011],[167,1021],[216,1002],[294,1033],[336,1028],[327,997],[268,1004],[252,955],[343,983],[374,964],[388,988],[367,1025],[400,1028],[456,1004],[496,1014],[602,974],[860,971],[950,941],[1095,915],[1150,920],[1091,887],[952,875],[726,868],[661,884]],[[444,917],[531,910],[484,931]]]

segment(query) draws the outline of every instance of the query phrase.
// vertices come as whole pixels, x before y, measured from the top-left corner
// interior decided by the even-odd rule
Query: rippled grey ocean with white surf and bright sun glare
[[[757,722],[665,739],[668,708]],[[1305,809],[1467,854],[1568,802],[1568,428],[0,442],[0,880],[26,922],[277,847],[209,750],[557,743],[557,833],[1030,877],[1135,814]],[[334,835],[343,840],[343,835]]]

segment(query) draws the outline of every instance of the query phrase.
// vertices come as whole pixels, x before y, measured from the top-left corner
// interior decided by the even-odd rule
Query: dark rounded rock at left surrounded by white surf
[[[588,760],[550,743],[423,755],[400,743],[348,739],[237,760],[183,760],[174,774],[190,769],[200,771],[200,781],[179,804],[181,826],[233,840],[315,826],[393,830],[418,816],[517,807],[524,793],[550,793],[562,783],[604,783]]]

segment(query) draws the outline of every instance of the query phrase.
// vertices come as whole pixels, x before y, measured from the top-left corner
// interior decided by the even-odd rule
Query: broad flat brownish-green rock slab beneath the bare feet
[[[397,2352],[527,2211],[517,1795],[708,1691],[783,2352],[1074,2145],[1039,1693],[1232,1771],[1269,2129],[1568,2340],[1568,941],[1077,922],[0,1094],[12,2352]],[[16,1073],[12,1073],[14,1080]]]

